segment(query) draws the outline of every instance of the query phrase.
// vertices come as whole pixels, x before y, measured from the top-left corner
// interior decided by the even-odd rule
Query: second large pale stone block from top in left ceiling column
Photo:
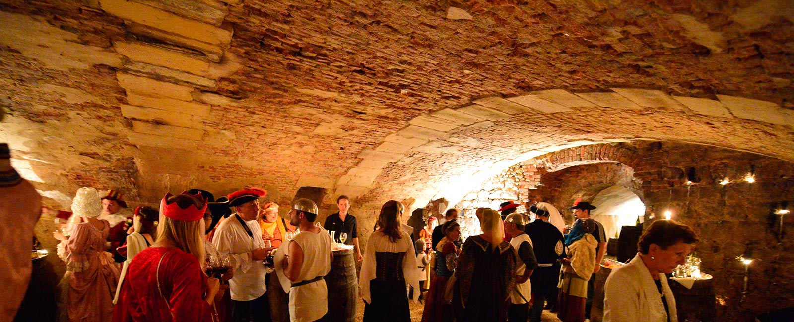
[[[141,42],[114,41],[114,49],[130,60],[187,71],[195,75],[207,75],[210,63],[186,52],[177,52]]]

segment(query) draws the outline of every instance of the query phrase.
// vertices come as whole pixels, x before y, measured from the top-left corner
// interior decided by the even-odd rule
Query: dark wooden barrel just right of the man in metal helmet
[[[321,321],[354,322],[358,299],[358,277],[353,250],[333,251],[331,271],[326,275],[328,313]]]

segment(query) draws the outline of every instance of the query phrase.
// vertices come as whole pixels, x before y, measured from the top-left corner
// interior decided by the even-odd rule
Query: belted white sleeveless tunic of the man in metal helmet
[[[331,270],[331,236],[320,228],[320,232],[299,232],[292,238],[303,251],[303,265],[298,280],[308,281],[326,276]],[[290,289],[290,319],[292,322],[318,320],[328,312],[328,287],[320,280]]]

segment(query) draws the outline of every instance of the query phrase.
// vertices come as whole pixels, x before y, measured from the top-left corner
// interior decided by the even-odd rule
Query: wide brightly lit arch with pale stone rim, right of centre
[[[361,151],[357,166],[337,180],[337,194],[364,202],[384,195],[416,197],[418,204],[434,197],[454,202],[471,190],[468,182],[516,163],[566,148],[634,140],[707,144],[794,160],[794,112],[773,102],[717,98],[613,88],[476,99],[415,117],[376,148]],[[699,136],[692,138],[692,132]]]

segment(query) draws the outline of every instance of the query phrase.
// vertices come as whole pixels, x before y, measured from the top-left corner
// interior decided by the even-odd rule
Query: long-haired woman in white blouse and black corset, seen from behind
[[[359,278],[364,321],[410,322],[406,283],[419,289],[414,243],[403,232],[403,204],[386,201],[378,215],[378,230],[369,236]],[[419,293],[414,292],[414,300]]]

